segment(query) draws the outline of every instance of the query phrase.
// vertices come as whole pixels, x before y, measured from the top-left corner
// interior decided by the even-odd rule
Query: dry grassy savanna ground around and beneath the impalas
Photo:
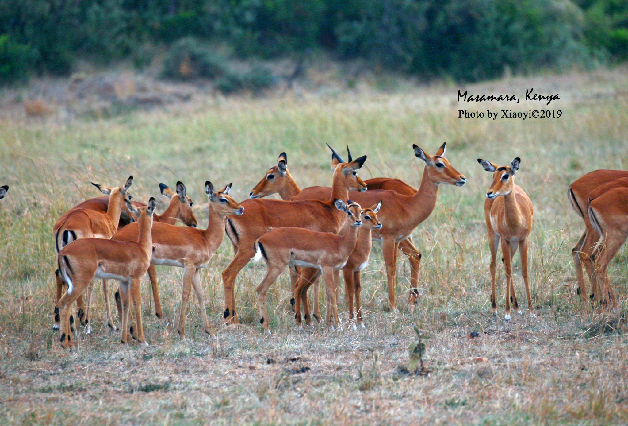
[[[628,274],[625,253],[610,274],[619,315],[596,318],[575,295],[571,248],[582,232],[568,184],[597,168],[628,167],[628,77],[625,69],[590,74],[512,78],[468,87],[474,93],[525,89],[556,93],[560,119],[458,119],[457,86],[403,90],[293,92],[262,99],[196,97],[177,107],[93,116],[0,117],[0,418],[24,424],[552,424],[625,423],[628,418]],[[522,102],[514,109],[540,107]],[[497,110],[509,104],[492,104]],[[487,109],[487,104],[467,109]],[[468,178],[443,186],[431,216],[414,231],[423,253],[420,302],[404,307],[408,263],[399,258],[398,304],[387,312],[379,245],[363,271],[367,328],[322,324],[298,331],[288,310],[284,274],[269,297],[272,336],[263,336],[255,287],[264,272],[251,264],[237,280],[241,325],[222,327],[220,273],[232,249],[224,241],[201,275],[214,338],[191,303],[188,339],[174,327],[181,270],[158,267],[165,317],[154,317],[143,281],[144,327],[151,346],[122,346],[106,327],[100,285],[94,330],[78,327],[78,346],[65,352],[53,322],[55,259],[51,227],[80,200],[97,196],[89,182],[136,180],[135,199],[158,196],[158,183],[181,180],[207,223],[203,183],[234,182],[244,200],[281,151],[301,188],[330,183],[325,143],[368,155],[360,177],[402,178],[418,187],[423,164],[411,145],[447,157]],[[342,151],[341,151],[342,152]],[[477,164],[522,158],[516,183],[534,203],[531,290],[538,316],[504,322],[490,315],[489,249],[483,216],[490,175]],[[158,197],[163,199],[163,197]],[[161,202],[160,209],[165,205]],[[384,207],[385,208],[385,207]],[[523,285],[516,256],[516,290]],[[324,300],[324,298],[323,298]],[[342,316],[347,319],[344,298]],[[400,367],[418,324],[426,340],[426,376]],[[470,334],[477,331],[479,337]]]

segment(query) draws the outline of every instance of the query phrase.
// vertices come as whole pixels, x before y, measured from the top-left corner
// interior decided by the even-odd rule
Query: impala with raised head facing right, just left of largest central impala
[[[232,214],[239,216],[244,212],[244,207],[229,197],[230,190],[231,183],[216,191],[212,182],[205,182],[205,194],[209,198],[207,229],[174,226],[160,222],[153,224],[151,265],[183,268],[183,295],[177,329],[181,337],[185,337],[185,314],[192,287],[197,295],[205,332],[212,334],[207,320],[207,312],[205,312],[199,271],[207,267],[216,249],[222,243],[225,234],[224,217]],[[122,228],[114,236],[114,240],[134,241],[138,238],[138,232],[140,232],[139,227],[136,224],[130,224]],[[252,246],[251,243],[251,249]]]

